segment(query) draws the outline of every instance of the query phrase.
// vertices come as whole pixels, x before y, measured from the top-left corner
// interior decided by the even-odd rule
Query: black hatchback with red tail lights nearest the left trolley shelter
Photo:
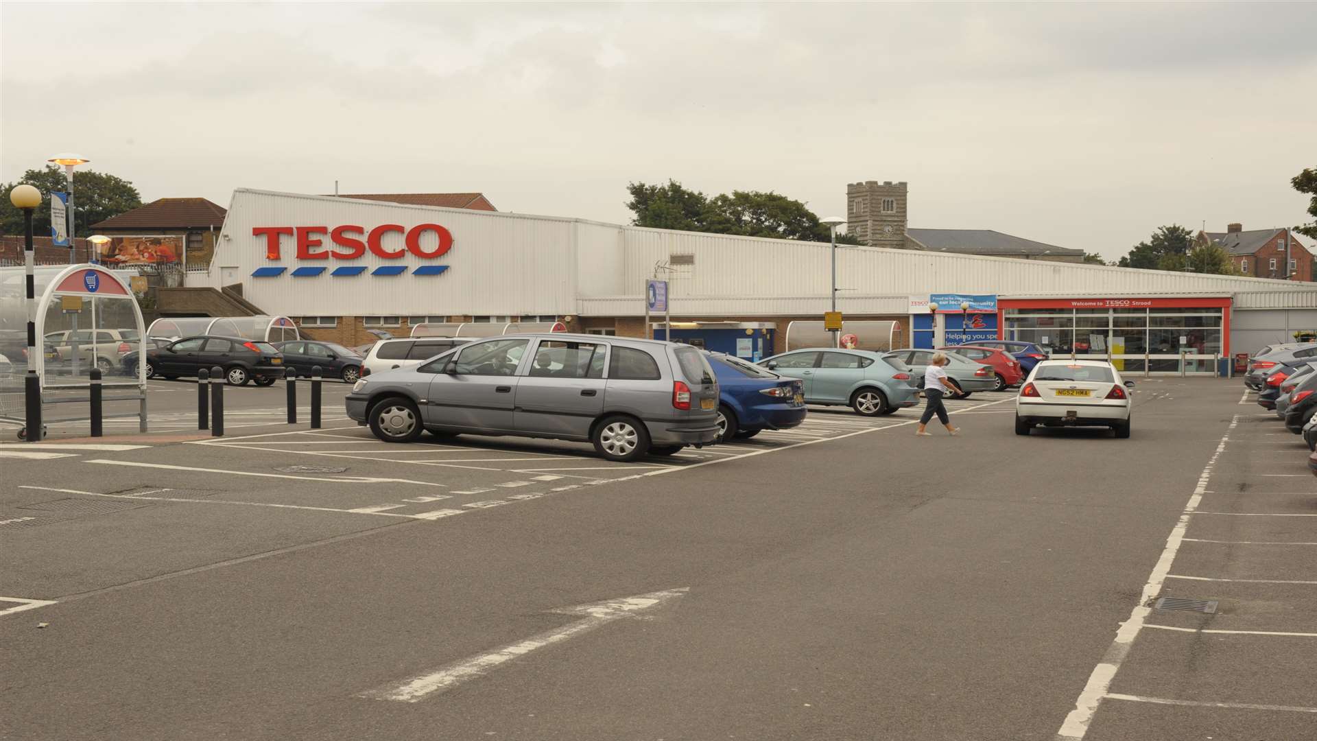
[[[283,377],[283,353],[267,341],[211,335],[183,338],[146,351],[148,376],[178,378],[215,367],[224,370],[230,385],[255,381],[258,386],[269,386]]]

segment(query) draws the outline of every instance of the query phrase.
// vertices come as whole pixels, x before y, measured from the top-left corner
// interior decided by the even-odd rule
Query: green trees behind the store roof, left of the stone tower
[[[734,190],[712,198],[691,191],[677,181],[668,185],[630,183],[627,208],[632,224],[661,229],[712,232],[753,237],[828,241],[831,229],[799,200],[777,193]],[[851,235],[838,235],[838,244],[859,244]]]

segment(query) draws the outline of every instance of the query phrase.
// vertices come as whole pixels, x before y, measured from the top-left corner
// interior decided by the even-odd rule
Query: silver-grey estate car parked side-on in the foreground
[[[357,381],[348,417],[377,438],[522,435],[594,443],[608,460],[718,438],[718,380],[690,345],[602,335],[471,341]]]

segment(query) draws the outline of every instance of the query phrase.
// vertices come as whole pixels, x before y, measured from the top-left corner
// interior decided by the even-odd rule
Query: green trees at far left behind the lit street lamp
[[[43,170],[28,170],[18,182],[3,183],[3,203],[0,203],[0,232],[22,233],[22,211],[9,203],[9,191],[18,183],[28,183],[41,191],[41,206],[33,212],[33,225],[37,235],[47,235],[50,229],[50,194],[67,193],[68,182],[65,171],[55,165]],[[80,237],[95,233],[92,224],[132,211],[142,204],[142,196],[133,183],[95,170],[74,173],[74,208],[76,210],[76,235]]]

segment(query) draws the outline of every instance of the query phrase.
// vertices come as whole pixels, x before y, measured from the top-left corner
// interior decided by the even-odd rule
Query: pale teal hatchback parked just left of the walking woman
[[[898,359],[863,349],[806,348],[759,361],[778,376],[805,381],[805,402],[849,406],[878,417],[919,403],[914,374]]]

